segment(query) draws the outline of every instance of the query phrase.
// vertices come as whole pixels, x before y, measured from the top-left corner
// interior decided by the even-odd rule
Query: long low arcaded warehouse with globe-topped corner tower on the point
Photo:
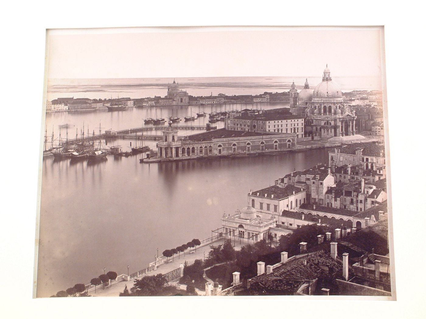
[[[163,140],[158,142],[160,158],[256,154],[296,146],[294,135],[230,131],[225,128],[178,138],[178,131],[172,127],[171,121],[162,132]]]

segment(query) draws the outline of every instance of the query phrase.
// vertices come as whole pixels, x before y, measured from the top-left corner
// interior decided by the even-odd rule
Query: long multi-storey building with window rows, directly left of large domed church
[[[259,114],[241,112],[228,114],[225,128],[233,131],[289,133],[295,134],[296,138],[302,138],[304,120],[302,116],[283,112],[263,111]]]

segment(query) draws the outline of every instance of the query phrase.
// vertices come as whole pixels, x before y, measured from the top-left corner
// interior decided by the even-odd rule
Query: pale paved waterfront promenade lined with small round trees
[[[157,267],[157,270],[155,271],[150,271],[149,273],[142,275],[140,277],[131,279],[130,281],[121,281],[121,282],[117,282],[115,284],[112,284],[111,287],[103,290],[101,286],[99,286],[99,288],[96,289],[96,293],[95,291],[90,291],[89,295],[91,296],[99,296],[99,297],[106,297],[106,296],[119,296],[119,294],[121,292],[124,291],[124,286],[127,285],[127,289],[133,287],[133,283],[135,279],[141,279],[143,276],[153,276],[153,275],[157,275],[158,273],[168,273],[169,271],[172,271],[176,268],[179,268],[180,264],[184,264],[185,261],[188,262],[188,264],[192,264],[195,259],[202,259],[204,260],[204,252],[205,252],[205,256],[207,257],[209,251],[210,251],[210,246],[214,245],[214,246],[218,246],[218,245],[223,245],[225,242],[225,239],[219,239],[216,240],[215,242],[211,243],[210,245],[205,245],[203,247],[197,247],[196,251],[194,249],[193,253],[186,253],[185,256],[181,256],[180,259],[179,258],[169,258],[169,262],[167,264],[163,264]],[[236,241],[235,243],[235,249],[239,250],[241,248],[241,246],[246,245],[247,243],[242,242],[241,245],[239,242]],[[186,289],[186,285],[180,285],[181,289]],[[201,292],[200,290],[197,289],[197,293],[199,294],[204,294],[204,292]]]

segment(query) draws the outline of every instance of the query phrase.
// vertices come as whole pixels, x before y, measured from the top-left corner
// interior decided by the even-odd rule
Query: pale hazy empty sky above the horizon
[[[49,78],[381,76],[379,28],[52,30]]]

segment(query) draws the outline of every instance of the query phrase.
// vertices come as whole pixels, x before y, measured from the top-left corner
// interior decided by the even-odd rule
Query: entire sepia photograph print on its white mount
[[[48,29],[44,83],[34,298],[396,299],[383,26]]]

